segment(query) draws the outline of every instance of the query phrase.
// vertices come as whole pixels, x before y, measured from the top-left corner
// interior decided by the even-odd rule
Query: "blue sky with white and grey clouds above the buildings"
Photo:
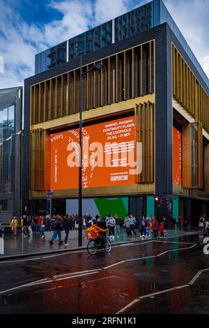
[[[34,74],[35,54],[147,0],[0,0],[0,89]],[[209,1],[164,0],[209,76]]]

